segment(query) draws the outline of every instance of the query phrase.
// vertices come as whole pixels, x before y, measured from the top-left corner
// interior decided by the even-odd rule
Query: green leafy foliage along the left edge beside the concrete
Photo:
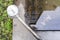
[[[11,4],[13,0],[0,0],[0,40],[12,40],[12,19],[6,11]]]

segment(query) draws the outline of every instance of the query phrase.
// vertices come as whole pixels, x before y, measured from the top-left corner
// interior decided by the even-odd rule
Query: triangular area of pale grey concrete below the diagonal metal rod
[[[37,40],[16,18],[13,19],[13,40]]]

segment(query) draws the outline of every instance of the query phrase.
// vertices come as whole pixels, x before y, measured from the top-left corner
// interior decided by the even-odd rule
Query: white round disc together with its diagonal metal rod
[[[19,19],[19,21],[23,24],[23,25],[25,25],[25,27],[37,38],[37,39],[39,39],[40,37],[17,15],[18,14],[18,8],[17,8],[17,6],[16,5],[10,5],[10,6],[8,6],[8,8],[7,8],[7,13],[8,13],[8,15],[9,16],[16,16],[18,19]]]

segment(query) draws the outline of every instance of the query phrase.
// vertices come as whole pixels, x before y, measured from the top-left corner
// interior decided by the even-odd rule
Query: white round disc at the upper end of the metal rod
[[[10,5],[7,7],[7,13],[9,16],[15,16],[18,14],[18,8],[16,5]]]

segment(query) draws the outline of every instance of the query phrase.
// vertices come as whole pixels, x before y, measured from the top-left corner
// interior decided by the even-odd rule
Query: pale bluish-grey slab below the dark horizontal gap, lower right
[[[60,31],[36,31],[41,40],[60,40]]]

